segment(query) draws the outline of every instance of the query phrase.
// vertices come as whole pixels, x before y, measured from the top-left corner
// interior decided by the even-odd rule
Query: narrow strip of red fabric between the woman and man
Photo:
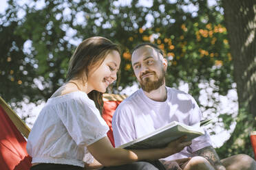
[[[117,106],[121,102],[122,101],[104,101],[103,105],[103,119],[107,122],[107,125],[109,125],[109,132],[107,132],[107,136],[109,137],[109,140],[111,141],[113,147],[115,147],[115,143],[112,129],[112,117]]]

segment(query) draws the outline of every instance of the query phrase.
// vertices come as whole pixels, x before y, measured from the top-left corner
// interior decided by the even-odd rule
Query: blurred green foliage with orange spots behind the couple
[[[213,99],[233,88],[233,58],[218,3],[54,0],[39,6],[32,0],[18,2],[8,1],[6,14],[0,15],[0,95],[10,103],[50,97],[65,82],[76,45],[90,36],[105,36],[122,49],[120,83],[110,93],[136,81],[130,51],[141,42],[153,42],[164,51],[167,86],[188,83],[197,101],[200,90],[208,88],[200,84],[213,82]],[[217,117],[219,101],[214,102],[201,107]],[[230,128],[231,117],[220,121]]]

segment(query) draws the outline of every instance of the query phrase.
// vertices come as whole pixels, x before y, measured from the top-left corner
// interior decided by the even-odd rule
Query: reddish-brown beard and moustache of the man
[[[158,89],[160,86],[162,86],[162,84],[164,84],[164,75],[165,75],[165,71],[162,68],[162,71],[158,77],[158,75],[156,75],[155,71],[147,71],[146,73],[144,73],[143,75],[147,74],[147,73],[153,73],[153,80],[151,80],[150,77],[145,77],[144,80],[142,80],[142,75],[140,76],[140,86],[142,88],[142,90],[145,90],[147,93],[150,93],[152,90],[156,90]]]

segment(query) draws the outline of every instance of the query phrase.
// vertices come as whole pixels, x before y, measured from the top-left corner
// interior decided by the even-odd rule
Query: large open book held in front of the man
[[[200,122],[200,126],[211,122],[211,119],[206,119]],[[164,127],[151,132],[145,136],[135,139],[129,143],[120,145],[125,149],[149,149],[165,147],[171,141],[186,135],[186,141],[191,141],[193,138],[204,134],[204,130],[200,127],[185,125],[177,121],[172,121]]]

